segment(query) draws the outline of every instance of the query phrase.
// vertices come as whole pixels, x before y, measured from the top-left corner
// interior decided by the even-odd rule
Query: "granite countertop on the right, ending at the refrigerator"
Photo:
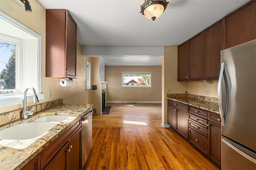
[[[220,114],[218,103],[215,102],[208,102],[188,97],[167,97],[167,99]]]

